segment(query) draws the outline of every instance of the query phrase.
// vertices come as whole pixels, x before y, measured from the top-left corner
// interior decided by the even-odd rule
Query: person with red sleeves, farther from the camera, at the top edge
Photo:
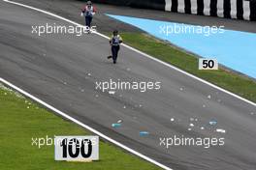
[[[92,17],[96,13],[96,9],[92,6],[91,1],[87,1],[86,6],[81,10],[81,15],[85,16],[85,26],[90,29]]]

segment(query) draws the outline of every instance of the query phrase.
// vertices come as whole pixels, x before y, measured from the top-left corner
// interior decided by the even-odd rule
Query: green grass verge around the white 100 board
[[[4,170],[156,170],[143,159],[100,142],[100,160],[88,163],[54,161],[54,147],[32,146],[32,137],[86,135],[89,132],[0,87],[0,169]]]

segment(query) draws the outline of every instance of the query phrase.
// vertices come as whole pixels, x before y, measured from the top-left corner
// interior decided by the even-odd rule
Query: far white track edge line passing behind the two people
[[[77,22],[74,22],[74,21],[72,21],[72,20],[70,20],[70,19],[67,19],[67,18],[62,17],[62,16],[57,15],[57,14],[52,14],[52,13],[49,13],[49,12],[47,12],[47,11],[40,10],[40,9],[31,7],[31,6],[27,6],[27,5],[24,5],[24,4],[16,3],[16,2],[14,2],[14,1],[9,1],[9,0],[3,0],[3,1],[4,1],[4,2],[11,3],[11,4],[16,4],[17,6],[25,7],[25,8],[31,9],[31,10],[35,10],[35,11],[38,11],[38,12],[41,12],[41,13],[44,13],[44,14],[49,14],[49,15],[51,15],[51,16],[54,16],[54,17],[57,17],[57,18],[59,18],[59,19],[65,20],[65,21],[67,21],[67,22],[70,22],[70,23],[72,23],[72,24],[74,24],[74,25],[84,27],[83,25],[81,25],[81,24],[79,24],[79,23],[77,23]],[[108,40],[110,39],[108,36],[105,36],[105,35],[103,35],[103,34],[101,34],[101,33],[98,33],[98,32],[95,32],[94,34],[97,34],[97,35],[99,35],[99,36],[101,36],[101,37],[103,37],[103,38],[105,38],[105,39],[108,39]],[[127,44],[122,44],[122,45],[125,46],[125,47],[127,47],[128,49],[131,49],[131,50],[133,50],[133,51],[139,53],[139,54],[142,54],[144,57],[147,57],[147,58],[149,58],[149,59],[151,59],[151,60],[154,60],[154,61],[156,61],[156,62],[158,62],[158,63],[161,63],[161,64],[163,64],[163,65],[165,65],[165,66],[167,66],[167,67],[169,67],[169,68],[171,68],[171,69],[173,69],[173,70],[179,71],[179,72],[181,72],[181,73],[183,73],[183,74],[186,74],[186,75],[188,75],[188,76],[190,76],[190,77],[192,77],[192,78],[194,78],[194,79],[197,79],[197,80],[199,80],[199,81],[201,81],[201,82],[207,84],[208,86],[211,86],[211,87],[213,87],[213,88],[215,88],[215,89],[217,89],[217,90],[219,90],[219,91],[225,92],[226,94],[229,94],[229,95],[231,95],[231,96],[233,96],[233,97],[235,97],[235,98],[237,98],[237,99],[241,99],[241,100],[243,100],[243,101],[245,101],[245,102],[247,102],[247,103],[249,103],[249,104],[252,104],[252,105],[256,106],[256,103],[253,102],[253,101],[251,101],[251,100],[244,99],[244,98],[242,98],[242,97],[240,97],[240,96],[238,96],[238,95],[236,95],[236,94],[234,94],[234,93],[232,93],[232,92],[229,92],[229,91],[227,91],[227,90],[225,90],[225,89],[222,89],[222,88],[220,88],[220,87],[218,87],[218,86],[216,86],[216,85],[214,85],[214,84],[212,84],[212,83],[210,83],[210,82],[208,82],[208,81],[206,81],[206,80],[204,80],[204,79],[202,79],[202,78],[199,78],[199,77],[197,77],[197,76],[195,76],[195,75],[193,75],[193,74],[191,74],[191,73],[188,73],[188,72],[186,72],[186,71],[182,71],[182,70],[176,68],[175,66],[172,66],[172,65],[170,65],[170,64],[168,64],[168,63],[165,63],[165,62],[163,62],[163,61],[161,61],[161,60],[159,60],[159,59],[156,59],[156,58],[154,58],[154,57],[152,57],[152,56],[150,56],[150,55],[148,55],[148,54],[146,54],[146,53],[144,53],[144,52],[142,52],[142,51],[140,51],[140,50],[138,50],[138,49],[136,49],[136,48],[134,48],[134,47],[131,47],[131,46],[127,45]]]

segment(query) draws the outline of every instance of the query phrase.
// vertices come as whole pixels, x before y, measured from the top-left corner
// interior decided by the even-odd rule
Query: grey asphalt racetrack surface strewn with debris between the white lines
[[[26,2],[30,5],[33,3]],[[36,1],[33,6],[51,12],[52,4],[49,1]],[[67,12],[65,3],[62,4],[63,8],[59,3],[58,8],[63,11],[58,11],[58,14],[65,16],[75,13],[78,6],[80,2],[70,6]],[[101,7],[112,8],[100,6],[99,10]],[[0,9],[0,77],[175,170],[256,169],[256,114],[251,114],[256,113],[255,106],[125,47],[121,49],[118,64],[113,66],[106,59],[110,48],[108,40],[94,34],[38,37],[31,33],[32,25],[45,25],[47,22],[70,24],[2,1]],[[112,10],[122,11],[117,7]],[[133,13],[135,10],[127,11]],[[74,14],[69,16],[71,19],[73,17],[76,17],[76,21],[82,21]],[[233,20],[225,22],[239,27],[239,24],[235,26]],[[244,29],[249,29],[251,23],[246,24],[248,26]],[[105,26],[109,27],[110,23]],[[120,27],[124,30],[134,29],[128,25]],[[110,78],[160,81],[162,87],[159,91],[145,93],[117,91],[115,95],[95,89],[96,81],[109,81]],[[171,122],[171,118],[175,118],[175,122]],[[190,118],[198,119],[193,122],[195,127],[191,131],[188,130],[192,123]],[[213,128],[208,126],[212,118],[218,121]],[[112,128],[112,123],[118,120],[123,121],[121,128]],[[201,129],[202,126],[206,129]],[[226,133],[217,133],[215,128],[224,128]],[[149,131],[149,135],[141,137],[139,131],[142,130]],[[208,149],[192,146],[166,149],[159,146],[160,137],[174,135],[224,137],[225,145]]]

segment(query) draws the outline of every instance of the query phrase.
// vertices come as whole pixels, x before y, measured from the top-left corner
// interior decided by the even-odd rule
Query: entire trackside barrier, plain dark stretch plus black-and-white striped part
[[[256,0],[93,0],[93,2],[174,13],[256,20]]]

